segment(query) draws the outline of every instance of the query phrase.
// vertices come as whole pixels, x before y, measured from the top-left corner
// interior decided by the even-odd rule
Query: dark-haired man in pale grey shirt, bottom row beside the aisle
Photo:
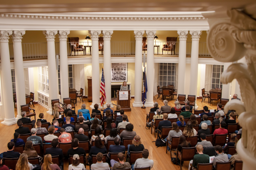
[[[139,158],[135,161],[134,164],[132,164],[131,168],[134,170],[134,168],[144,168],[150,166],[150,169],[153,168],[154,161],[151,159],[148,159],[149,152],[148,149],[143,149],[142,151],[142,158]]]

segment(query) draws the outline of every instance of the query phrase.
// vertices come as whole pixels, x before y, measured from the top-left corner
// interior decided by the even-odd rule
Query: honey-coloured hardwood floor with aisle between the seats
[[[77,99],[77,106],[76,106],[76,112],[78,109],[81,109],[81,105],[83,103],[86,104],[86,109],[90,110],[90,113],[92,113],[92,109],[90,108],[90,105],[92,102],[88,102],[87,99],[83,99],[84,102],[80,102],[79,98]],[[174,96],[174,100],[170,101],[168,105],[171,107],[174,107],[174,101],[176,100],[176,96]],[[207,99],[206,99],[207,100]],[[201,99],[197,99],[197,110],[203,110],[204,106],[208,106],[209,109],[217,109],[217,102],[213,102],[210,106],[208,101],[204,101],[201,103]],[[149,159],[154,160],[154,167],[153,170],[170,170],[170,169],[180,169],[180,166],[176,166],[171,162],[170,158],[170,152],[166,152],[166,147],[158,147],[155,146],[156,138],[153,134],[151,134],[151,128],[150,130],[147,130],[145,128],[146,125],[146,114],[149,112],[150,108],[141,109],[138,107],[133,108],[132,103],[134,102],[134,99],[131,100],[131,112],[125,112],[125,114],[128,116],[129,121],[134,125],[134,131],[136,131],[137,135],[140,136],[142,140],[142,144],[146,149],[149,151]],[[157,102],[160,106],[163,106],[162,98],[157,99],[157,96],[154,97],[154,102]],[[112,101],[113,104],[116,104],[116,101]],[[53,116],[46,113],[46,109],[39,104],[35,104],[35,108],[32,106],[32,109],[36,110],[36,119],[39,118],[39,113],[44,113],[44,119],[46,119],[48,122],[52,122]],[[116,106],[114,106],[113,110],[116,109]],[[194,111],[193,111],[194,112]],[[17,107],[15,109],[15,115],[17,115]],[[10,142],[10,140],[13,138],[14,130],[18,128],[17,124],[14,124],[12,126],[6,126],[3,124],[0,124],[0,145],[2,146],[0,148],[0,153],[5,152],[7,150],[7,143]],[[174,152],[172,152],[172,157],[176,157],[174,155]],[[89,166],[86,166],[86,169],[89,168]],[[64,161],[64,170],[68,169],[68,160]],[[183,170],[188,170],[188,161],[185,161],[183,166]]]

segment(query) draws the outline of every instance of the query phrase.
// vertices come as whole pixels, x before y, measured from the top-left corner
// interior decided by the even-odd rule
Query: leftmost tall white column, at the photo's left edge
[[[1,71],[2,71],[2,83],[5,118],[1,124],[12,125],[16,124],[17,120],[14,115],[13,97],[12,97],[12,74],[11,74],[11,62],[9,53],[9,35],[12,35],[12,31],[0,31],[0,54],[1,54]],[[22,61],[23,63],[23,61]],[[22,72],[23,73],[23,72]],[[24,89],[25,90],[25,89]]]

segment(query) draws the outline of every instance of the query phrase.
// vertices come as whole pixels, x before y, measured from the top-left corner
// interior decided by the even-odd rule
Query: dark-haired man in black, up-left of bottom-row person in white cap
[[[63,167],[63,152],[62,152],[62,149],[58,148],[58,146],[59,146],[58,137],[55,139],[52,139],[52,147],[46,148],[45,155],[50,154],[52,156],[59,156],[59,165]]]

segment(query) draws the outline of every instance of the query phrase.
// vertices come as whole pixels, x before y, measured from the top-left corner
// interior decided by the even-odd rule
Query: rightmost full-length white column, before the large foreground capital
[[[189,95],[197,94],[197,75],[198,75],[198,48],[199,48],[199,38],[202,31],[189,31],[192,35],[192,45],[191,45],[191,66],[190,66],[190,86]],[[198,108],[195,103],[195,110]]]

